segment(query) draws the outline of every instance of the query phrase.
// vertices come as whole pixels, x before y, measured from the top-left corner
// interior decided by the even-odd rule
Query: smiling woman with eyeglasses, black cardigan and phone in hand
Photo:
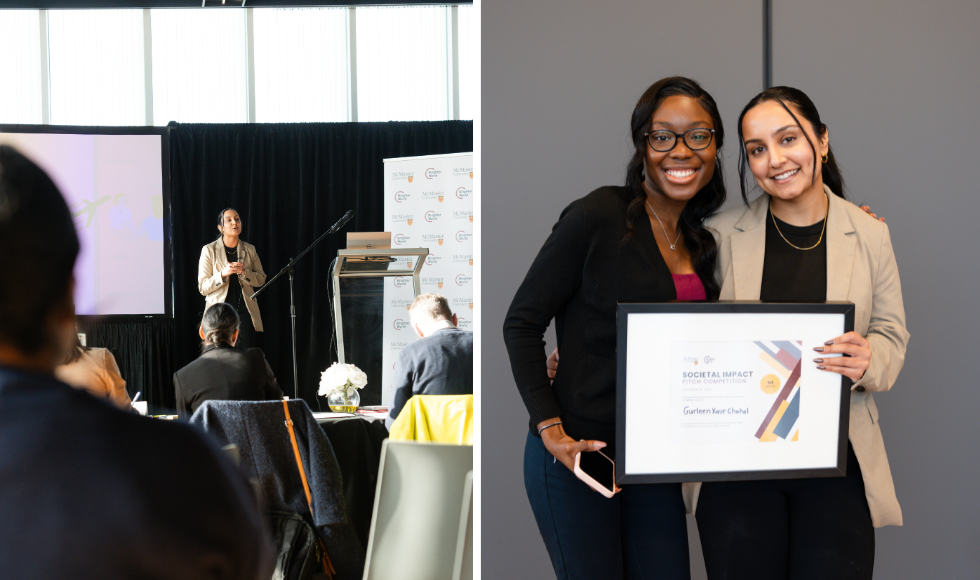
[[[725,200],[724,129],[714,99],[673,77],[640,97],[631,132],[626,183],[565,208],[504,323],[530,415],[524,483],[560,579],[690,577],[680,484],[619,489],[596,452],[614,457],[616,303],[718,295],[703,220]],[[552,320],[563,361],[553,384],[543,341]],[[573,473],[576,459],[590,484]]]

